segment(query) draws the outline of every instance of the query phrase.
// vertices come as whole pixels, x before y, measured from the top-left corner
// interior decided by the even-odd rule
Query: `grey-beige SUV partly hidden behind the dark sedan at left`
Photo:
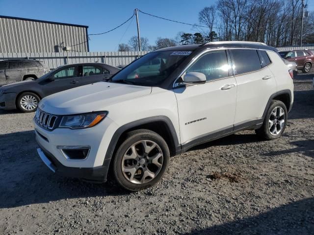
[[[49,71],[50,69],[38,60],[0,61],[0,85],[24,80],[36,80]]]

